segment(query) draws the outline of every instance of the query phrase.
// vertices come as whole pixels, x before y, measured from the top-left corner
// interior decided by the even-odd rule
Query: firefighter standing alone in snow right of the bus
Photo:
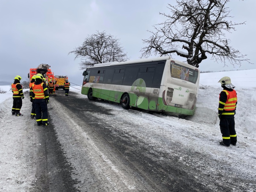
[[[222,142],[219,144],[229,147],[230,144],[236,145],[237,135],[235,130],[236,106],[237,106],[237,93],[234,90],[234,85],[231,83],[229,77],[223,77],[219,80],[223,90],[219,94],[219,126],[222,133]]]

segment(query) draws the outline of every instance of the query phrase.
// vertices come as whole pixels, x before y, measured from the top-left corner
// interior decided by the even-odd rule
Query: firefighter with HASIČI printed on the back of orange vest
[[[31,95],[35,103],[35,117],[37,120],[37,125],[49,125],[47,109],[49,95],[48,89],[46,84],[43,82],[43,76],[41,74],[37,74],[35,76],[35,83],[32,85]]]

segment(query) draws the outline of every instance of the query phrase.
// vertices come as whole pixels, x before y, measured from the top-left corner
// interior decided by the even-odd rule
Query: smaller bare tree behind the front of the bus
[[[124,53],[119,39],[112,35],[107,35],[105,31],[89,35],[84,40],[82,46],[69,52],[75,54],[75,59],[83,58],[80,68],[85,69],[97,63],[108,63],[113,61],[127,61],[127,53]]]

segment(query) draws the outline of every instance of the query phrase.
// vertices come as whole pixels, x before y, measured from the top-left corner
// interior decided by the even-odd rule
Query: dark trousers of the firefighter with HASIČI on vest
[[[37,124],[45,124],[48,122],[48,109],[46,101],[39,103],[35,102],[35,117]]]

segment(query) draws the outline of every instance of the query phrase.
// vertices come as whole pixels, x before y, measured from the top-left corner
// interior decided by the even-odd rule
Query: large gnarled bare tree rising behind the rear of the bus
[[[231,33],[235,26],[245,24],[227,20],[231,18],[226,7],[229,1],[176,0],[177,5],[168,4],[171,13],[160,13],[167,20],[154,26],[156,32],[149,31],[152,33],[149,39],[143,39],[147,46],[141,50],[142,57],[152,53],[160,56],[177,54],[195,67],[199,67],[208,54],[224,65],[227,61],[232,65],[241,65],[242,61],[250,63],[249,59],[244,59],[246,55],[230,46],[230,39],[225,38],[224,32]]]

